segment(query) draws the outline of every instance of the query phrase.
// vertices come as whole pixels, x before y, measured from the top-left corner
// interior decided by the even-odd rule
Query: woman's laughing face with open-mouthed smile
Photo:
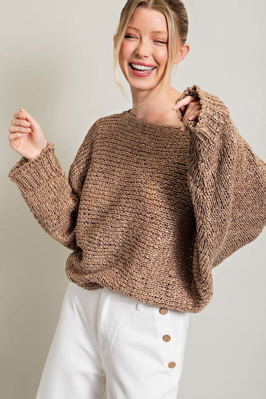
[[[155,9],[136,8],[119,52],[119,65],[131,88],[145,90],[157,86],[164,76],[167,59],[168,29],[165,15]],[[155,68],[144,73],[138,72],[131,63],[135,67],[138,64]]]

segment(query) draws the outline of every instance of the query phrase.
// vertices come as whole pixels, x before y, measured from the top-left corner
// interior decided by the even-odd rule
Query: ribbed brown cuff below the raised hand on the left
[[[34,190],[51,178],[62,175],[64,171],[60,166],[54,152],[53,143],[47,143],[40,154],[31,160],[22,157],[10,170],[7,177],[21,190]]]

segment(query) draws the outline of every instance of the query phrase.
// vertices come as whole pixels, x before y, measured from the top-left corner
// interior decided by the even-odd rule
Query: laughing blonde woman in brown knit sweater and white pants
[[[73,251],[37,399],[176,398],[212,268],[265,225],[266,165],[227,107],[197,85],[171,87],[187,33],[182,1],[126,2],[114,59],[133,108],[92,125],[68,177],[33,117],[14,113],[9,143],[22,158],[8,176]]]

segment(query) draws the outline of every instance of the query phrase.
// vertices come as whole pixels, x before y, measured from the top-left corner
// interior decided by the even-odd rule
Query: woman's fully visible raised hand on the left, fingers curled
[[[9,127],[10,147],[28,160],[35,158],[48,144],[40,125],[23,108],[15,112]]]

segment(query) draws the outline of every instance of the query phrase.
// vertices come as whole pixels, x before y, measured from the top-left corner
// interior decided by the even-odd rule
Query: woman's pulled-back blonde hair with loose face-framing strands
[[[183,1],[181,0],[127,0],[120,14],[120,20],[115,32],[113,49],[115,81],[124,95],[125,91],[118,79],[117,64],[119,60],[120,47],[126,33],[127,25],[129,23],[132,13],[137,7],[155,9],[162,12],[167,19],[168,60],[162,83],[159,86],[157,93],[155,93],[155,95],[151,97],[154,98],[161,92],[164,85],[166,84],[169,76],[171,75],[171,68],[175,56],[180,51],[181,47],[186,43],[188,35],[188,14]],[[150,100],[151,98],[149,98],[148,100]],[[138,103],[136,106],[142,105],[146,101]]]

